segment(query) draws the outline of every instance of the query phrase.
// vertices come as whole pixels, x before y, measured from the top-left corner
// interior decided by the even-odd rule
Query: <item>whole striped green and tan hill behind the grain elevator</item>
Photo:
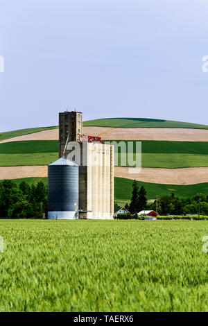
[[[142,142],[141,174],[129,175],[128,167],[115,168],[115,177],[119,177],[115,178],[117,199],[129,198],[132,180],[128,178],[137,178],[146,185],[149,198],[158,191],[169,194],[173,191],[170,189],[175,189],[178,196],[187,196],[197,189],[207,191],[208,126],[139,118],[97,119],[85,121],[83,125],[85,135],[99,135],[103,140]],[[119,153],[120,157],[122,155]],[[0,179],[12,177],[18,182],[24,176],[46,177],[46,164],[57,158],[57,126],[2,132],[0,135]]]

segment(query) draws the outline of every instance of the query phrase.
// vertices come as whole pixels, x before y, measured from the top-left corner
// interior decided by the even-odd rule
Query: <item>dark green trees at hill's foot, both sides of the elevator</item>
[[[12,180],[0,182],[0,218],[42,218],[44,207],[47,206],[47,187],[43,182],[28,185],[21,182],[17,185]],[[115,212],[119,210],[115,204]],[[148,201],[144,186],[134,180],[132,198],[125,208],[135,215],[144,209],[157,211],[160,215],[198,214],[199,197],[178,198],[174,194],[162,196],[158,200]],[[200,214],[208,216],[208,196],[200,195]]]

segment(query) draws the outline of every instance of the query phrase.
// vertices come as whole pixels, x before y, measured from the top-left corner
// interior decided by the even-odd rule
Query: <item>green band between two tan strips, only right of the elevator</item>
[[[116,143],[119,144],[120,140]],[[128,166],[128,160],[123,161],[127,149],[128,157],[136,158],[136,141],[133,141],[132,148],[128,146],[128,141],[124,144],[123,148],[118,148],[118,166]],[[132,149],[134,155],[131,155]],[[141,153],[143,167],[180,169],[208,166],[208,142],[203,141],[141,141]]]

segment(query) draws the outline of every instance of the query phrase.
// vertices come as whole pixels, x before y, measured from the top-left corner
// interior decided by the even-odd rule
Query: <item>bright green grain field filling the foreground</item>
[[[1,220],[0,311],[208,311],[206,221]]]

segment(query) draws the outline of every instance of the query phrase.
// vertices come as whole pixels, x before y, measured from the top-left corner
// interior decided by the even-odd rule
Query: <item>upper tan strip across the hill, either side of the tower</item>
[[[208,141],[208,130],[204,129],[83,127],[83,133],[100,136],[104,140]],[[58,140],[58,129],[14,137],[0,143],[22,140]]]

